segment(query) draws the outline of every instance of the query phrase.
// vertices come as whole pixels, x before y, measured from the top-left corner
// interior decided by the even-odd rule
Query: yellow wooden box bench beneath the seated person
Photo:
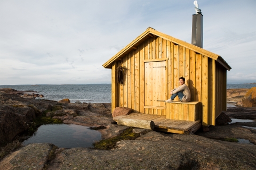
[[[202,120],[201,102],[182,103],[173,101],[166,103],[166,118],[171,120],[197,121]]]

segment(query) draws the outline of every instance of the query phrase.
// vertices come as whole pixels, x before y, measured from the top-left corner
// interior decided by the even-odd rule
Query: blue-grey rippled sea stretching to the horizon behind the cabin
[[[250,89],[255,83],[227,84],[227,89]],[[0,85],[0,88],[12,88],[18,91],[34,90],[44,98],[59,101],[68,98],[70,103],[111,103],[111,84],[38,84],[38,85]]]

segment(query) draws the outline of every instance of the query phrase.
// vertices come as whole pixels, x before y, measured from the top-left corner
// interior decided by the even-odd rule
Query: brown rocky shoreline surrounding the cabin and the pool
[[[0,91],[3,91],[0,89]],[[231,93],[230,93],[231,94]],[[233,92],[228,99],[242,96]],[[231,97],[230,97],[231,96]],[[112,124],[111,104],[71,104],[36,100],[0,92],[0,139],[11,141],[44,111],[64,123],[104,126],[102,139],[112,138],[128,127]],[[54,111],[53,108],[61,106]],[[228,108],[230,118],[256,120],[255,108]],[[251,128],[246,128],[251,127]],[[254,128],[254,129],[253,129]],[[58,148],[49,143],[32,143],[0,161],[0,169],[255,169],[256,121],[210,126],[209,132],[172,134],[134,129],[140,137],[117,142],[111,150]],[[244,139],[251,144],[229,142]]]

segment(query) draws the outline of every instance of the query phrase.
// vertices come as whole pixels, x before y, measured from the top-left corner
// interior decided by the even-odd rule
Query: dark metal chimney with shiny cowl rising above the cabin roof
[[[192,41],[191,44],[203,48],[203,15],[198,8],[197,1],[194,1],[196,14],[193,16],[192,21]]]

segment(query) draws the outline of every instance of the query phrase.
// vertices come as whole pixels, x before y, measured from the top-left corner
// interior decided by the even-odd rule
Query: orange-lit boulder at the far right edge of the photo
[[[256,87],[252,87],[242,99],[243,107],[256,107]]]

